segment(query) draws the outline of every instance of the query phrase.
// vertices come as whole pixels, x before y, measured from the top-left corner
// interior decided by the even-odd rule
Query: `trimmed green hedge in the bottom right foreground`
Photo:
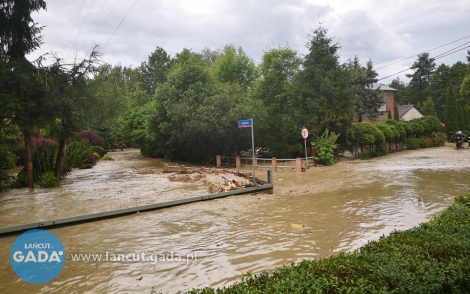
[[[430,222],[354,252],[187,293],[470,293],[470,193]]]

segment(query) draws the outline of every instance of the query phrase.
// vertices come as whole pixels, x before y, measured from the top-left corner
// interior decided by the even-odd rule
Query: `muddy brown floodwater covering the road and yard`
[[[124,153],[118,159],[77,171],[58,189],[0,193],[0,226],[206,193],[200,182],[169,181],[158,172],[160,160]],[[15,237],[1,238],[0,292],[174,293],[230,285],[246,272],[354,250],[393,230],[426,222],[468,191],[469,171],[470,149],[449,145],[404,151],[369,161],[343,160],[305,173],[279,171],[274,194],[54,229],[67,259],[59,276],[45,285],[27,284],[16,276],[9,264]],[[136,259],[145,253],[157,259],[85,262],[71,257],[104,258],[106,252],[108,257],[133,254]],[[179,261],[179,256],[195,260]]]

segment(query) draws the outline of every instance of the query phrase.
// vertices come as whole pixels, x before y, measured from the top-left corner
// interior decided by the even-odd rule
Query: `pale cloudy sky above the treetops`
[[[55,52],[66,61],[84,58],[95,44],[102,61],[137,67],[155,48],[171,56],[232,44],[256,64],[270,47],[289,45],[307,53],[309,34],[320,24],[341,45],[340,62],[357,55],[373,61],[380,82],[405,74],[417,54],[436,47],[436,60],[466,62],[470,46],[468,0],[46,0],[33,14],[44,44],[30,58]],[[460,46],[460,47],[459,47]],[[465,49],[466,48],[466,49]],[[450,51],[449,53],[451,53]],[[408,58],[408,59],[407,59]],[[390,77],[389,77],[390,76]]]

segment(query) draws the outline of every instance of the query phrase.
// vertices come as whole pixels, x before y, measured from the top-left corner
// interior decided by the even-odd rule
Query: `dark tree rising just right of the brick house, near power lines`
[[[426,97],[429,96],[427,87],[431,81],[431,76],[435,67],[436,64],[434,59],[429,57],[429,53],[421,53],[418,55],[418,60],[411,66],[411,69],[415,72],[413,74],[406,75],[411,78],[408,85],[409,102],[412,104],[418,104],[418,102],[424,101]]]

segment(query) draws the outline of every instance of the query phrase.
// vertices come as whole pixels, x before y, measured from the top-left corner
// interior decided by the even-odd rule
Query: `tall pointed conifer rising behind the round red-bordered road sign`
[[[344,133],[356,117],[349,74],[339,64],[340,45],[327,33],[322,26],[313,31],[298,80],[303,123],[317,134],[327,128]]]

